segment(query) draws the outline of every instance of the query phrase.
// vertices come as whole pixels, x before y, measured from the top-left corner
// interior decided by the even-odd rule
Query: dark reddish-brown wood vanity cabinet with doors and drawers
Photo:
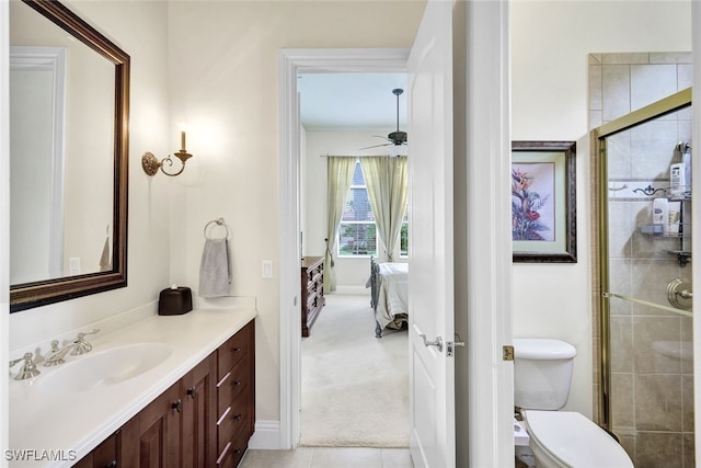
[[[251,320],[76,467],[235,467],[255,424]]]

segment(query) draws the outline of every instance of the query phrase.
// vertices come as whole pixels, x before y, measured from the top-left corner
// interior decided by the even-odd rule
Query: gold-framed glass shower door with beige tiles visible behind
[[[693,467],[691,94],[596,130],[604,418],[636,467]]]

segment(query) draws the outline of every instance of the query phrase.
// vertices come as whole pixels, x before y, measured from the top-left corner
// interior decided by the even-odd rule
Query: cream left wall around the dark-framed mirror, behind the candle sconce
[[[131,57],[128,287],[12,313],[10,350],[33,343],[46,350],[55,336],[148,305],[157,300],[159,290],[168,286],[171,276],[168,201],[173,181],[163,174],[148,178],[141,170],[140,160],[145,151],[163,157],[179,141],[175,132],[169,130],[168,119],[168,24],[163,21],[168,4],[138,1],[65,3]],[[0,53],[4,57],[7,48]],[[104,229],[102,225],[100,232],[104,233]]]

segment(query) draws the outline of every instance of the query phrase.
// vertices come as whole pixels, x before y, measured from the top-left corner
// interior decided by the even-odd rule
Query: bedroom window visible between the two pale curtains
[[[338,226],[338,256],[377,255],[377,228],[360,161],[356,161],[350,192]]]

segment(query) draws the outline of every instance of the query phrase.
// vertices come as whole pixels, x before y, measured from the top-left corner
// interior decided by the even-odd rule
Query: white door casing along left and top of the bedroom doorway
[[[405,73],[407,49],[299,49],[280,55],[280,446],[300,441],[302,255],[301,122],[298,77],[306,73]],[[322,312],[323,313],[323,312]],[[311,331],[313,333],[313,330]],[[371,332],[371,331],[370,331]]]

